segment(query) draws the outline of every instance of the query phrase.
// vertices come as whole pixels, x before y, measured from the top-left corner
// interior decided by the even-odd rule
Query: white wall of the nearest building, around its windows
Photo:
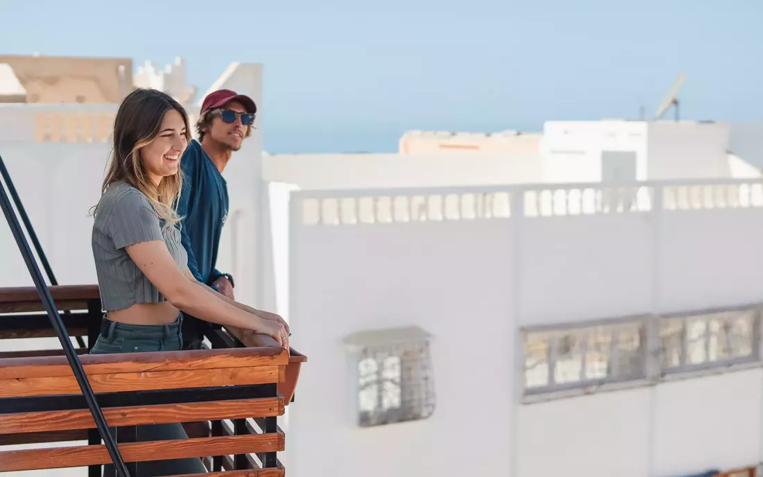
[[[520,404],[519,327],[763,295],[761,184],[646,183],[629,208],[575,205],[597,187],[560,185],[539,208],[530,186],[293,192],[288,317],[310,362],[289,407],[290,472],[667,477],[758,462],[759,367]],[[436,410],[356,427],[342,338],[407,325],[434,335]]]

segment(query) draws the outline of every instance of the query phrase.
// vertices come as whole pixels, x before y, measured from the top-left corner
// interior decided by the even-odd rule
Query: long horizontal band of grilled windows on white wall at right
[[[761,363],[758,306],[523,329],[523,391],[533,396]],[[745,365],[746,366],[746,365]]]

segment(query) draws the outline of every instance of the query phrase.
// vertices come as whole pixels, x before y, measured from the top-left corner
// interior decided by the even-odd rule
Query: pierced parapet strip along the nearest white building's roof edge
[[[713,181],[540,184],[427,189],[294,192],[308,225],[638,214],[763,207],[763,182]]]

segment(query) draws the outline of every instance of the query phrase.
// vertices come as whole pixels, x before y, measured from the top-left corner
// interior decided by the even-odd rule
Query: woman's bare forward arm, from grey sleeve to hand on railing
[[[217,298],[210,288],[195,285],[180,271],[163,241],[148,240],[124,249],[141,272],[176,308],[204,321],[252,330],[273,337],[288,350],[288,331],[278,321],[262,319]]]

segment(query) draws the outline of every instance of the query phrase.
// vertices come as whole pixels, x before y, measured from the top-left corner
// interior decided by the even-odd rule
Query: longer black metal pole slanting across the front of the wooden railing
[[[37,261],[32,255],[32,250],[29,248],[27,237],[24,237],[24,231],[21,230],[21,224],[18,222],[18,218],[11,206],[11,201],[8,198],[8,194],[5,192],[5,185],[0,181],[0,208],[2,208],[3,214],[5,214],[5,220],[8,221],[8,227],[11,227],[11,233],[16,239],[18,244],[18,250],[21,251],[21,255],[24,256],[24,262],[27,264],[29,274],[34,280],[34,286],[37,288],[37,293],[40,294],[40,299],[43,301],[45,311],[47,311],[48,317],[50,317],[50,323],[53,324],[53,329],[56,330],[58,340],[63,346],[63,353],[66,355],[66,359],[69,360],[69,366],[72,367],[74,376],[79,383],[79,388],[82,390],[82,395],[85,397],[85,402],[88,404],[88,408],[92,413],[95,426],[98,427],[98,432],[101,433],[101,438],[106,444],[111,461],[114,462],[114,467],[117,469],[117,475],[120,477],[130,477],[130,473],[127,472],[127,466],[124,465],[124,460],[119,453],[117,444],[114,443],[114,439],[111,434],[108,433],[108,425],[106,419],[103,417],[101,408],[98,407],[98,402],[95,401],[95,395],[90,387],[87,375],[85,375],[85,369],[82,368],[74,346],[72,346],[69,335],[66,333],[66,328],[63,326],[60,314],[56,309],[56,305],[53,302],[53,297],[50,295],[50,288],[45,285],[42,273],[40,273],[40,267],[37,266]]]

